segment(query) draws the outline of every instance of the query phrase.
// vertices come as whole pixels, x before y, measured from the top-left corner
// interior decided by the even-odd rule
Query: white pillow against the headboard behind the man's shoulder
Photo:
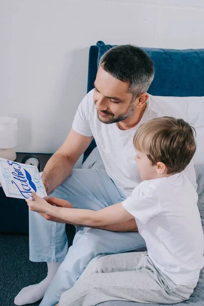
[[[157,97],[174,108],[176,113],[179,112],[181,118],[195,128],[197,148],[193,162],[195,165],[204,164],[204,97],[154,96],[155,99]]]

